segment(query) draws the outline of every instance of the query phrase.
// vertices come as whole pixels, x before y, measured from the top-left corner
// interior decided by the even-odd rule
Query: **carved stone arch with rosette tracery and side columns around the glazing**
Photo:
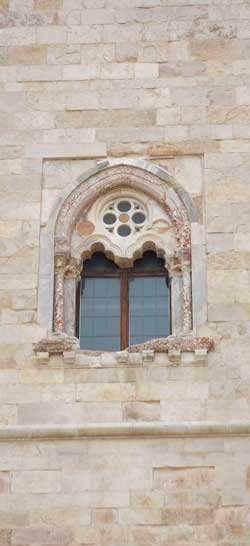
[[[176,278],[177,288],[171,291],[173,335],[191,335],[190,211],[169,183],[171,177],[166,178],[129,164],[115,165],[80,181],[66,197],[54,238],[57,335],[74,335],[75,317],[71,328],[67,326],[65,293],[69,286],[76,289],[85,259],[102,250],[120,267],[131,267],[149,249],[164,258],[169,276]]]

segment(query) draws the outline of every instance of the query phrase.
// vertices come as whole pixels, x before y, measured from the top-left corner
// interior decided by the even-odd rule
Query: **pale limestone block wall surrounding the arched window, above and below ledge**
[[[0,4],[0,544],[246,546],[249,1]],[[41,228],[78,176],[124,157],[167,168],[200,211],[199,334],[215,350],[177,365],[83,354],[39,364]],[[195,421],[224,429],[200,437]],[[179,437],[67,437],[67,425],[95,422],[168,422]],[[65,438],[39,440],[53,424]],[[8,441],[6,425],[31,427],[33,440],[15,428]]]

